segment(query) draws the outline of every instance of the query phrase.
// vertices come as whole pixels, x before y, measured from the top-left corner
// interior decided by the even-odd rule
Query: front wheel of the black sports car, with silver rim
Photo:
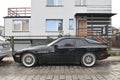
[[[21,62],[25,67],[33,67],[37,64],[37,58],[31,53],[25,53],[21,58]]]

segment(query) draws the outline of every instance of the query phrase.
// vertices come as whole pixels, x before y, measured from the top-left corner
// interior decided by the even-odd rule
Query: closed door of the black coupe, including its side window
[[[62,39],[55,45],[57,45],[57,48],[55,49],[56,61],[59,63],[74,62],[74,39]]]

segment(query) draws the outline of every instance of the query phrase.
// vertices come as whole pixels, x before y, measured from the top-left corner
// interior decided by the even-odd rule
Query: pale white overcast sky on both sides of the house
[[[3,17],[10,7],[31,7],[31,0],[0,0],[0,26],[4,26]],[[112,17],[112,26],[120,28],[120,4],[116,0],[112,0],[112,12],[117,13]]]

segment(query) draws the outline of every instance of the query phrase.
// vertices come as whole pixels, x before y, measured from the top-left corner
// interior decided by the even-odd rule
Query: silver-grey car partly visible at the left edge
[[[0,36],[0,61],[11,54],[11,47],[9,41]]]

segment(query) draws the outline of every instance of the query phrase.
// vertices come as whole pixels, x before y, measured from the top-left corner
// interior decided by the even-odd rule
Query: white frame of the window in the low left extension
[[[15,24],[14,21],[20,21],[20,30],[15,30]],[[23,30],[23,21],[28,21],[28,30]],[[29,19],[14,19],[13,21],[13,32],[29,32]]]

